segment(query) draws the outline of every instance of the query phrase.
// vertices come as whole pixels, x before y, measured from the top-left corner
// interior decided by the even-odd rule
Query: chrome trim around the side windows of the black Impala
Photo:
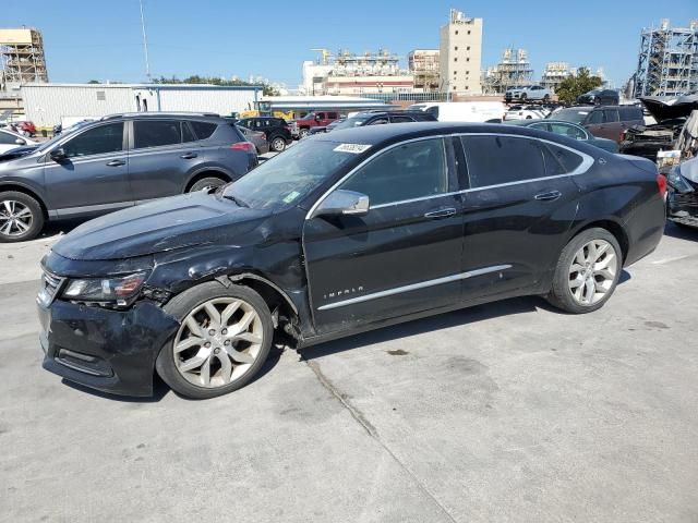
[[[372,205],[371,207],[369,207],[369,210],[371,209],[381,209],[384,207],[392,207],[395,205],[402,205],[402,204],[411,204],[414,202],[423,202],[426,199],[433,199],[433,198],[441,198],[444,196],[454,196],[457,194],[467,194],[467,193],[473,193],[477,191],[485,191],[489,188],[496,188],[496,187],[506,187],[509,185],[519,185],[521,183],[530,183],[530,182],[540,182],[541,180],[555,180],[557,178],[565,178],[565,177],[577,177],[579,174],[585,174],[590,168],[591,166],[593,166],[594,163],[594,159],[587,155],[586,153],[582,153],[578,149],[575,149],[573,147],[568,147],[564,144],[559,144],[557,142],[552,142],[550,139],[545,139],[545,138],[539,138],[538,136],[525,136],[525,135],[520,135],[520,134],[509,134],[509,133],[454,133],[454,134],[440,134],[440,135],[432,135],[432,136],[421,136],[419,138],[411,138],[411,139],[407,139],[405,142],[399,142],[397,144],[393,144],[384,149],[377,150],[375,151],[373,155],[371,155],[369,158],[366,158],[365,160],[363,160],[361,163],[359,163],[357,167],[354,167],[351,171],[349,171],[347,174],[345,174],[337,183],[335,183],[332,187],[329,187],[325,193],[323,193],[323,195],[317,198],[317,200],[315,202],[315,204],[313,204],[313,206],[310,208],[310,210],[308,211],[308,214],[305,215],[305,220],[311,220],[313,219],[313,212],[316,210],[316,208],[320,206],[320,204],[327,197],[329,196],[329,193],[332,193],[333,191],[335,191],[339,185],[341,185],[349,177],[351,177],[357,170],[361,169],[363,166],[365,166],[369,161],[371,161],[373,158],[377,157],[380,154],[385,153],[387,150],[390,150],[394,147],[397,147],[398,145],[402,145],[402,144],[409,144],[411,142],[419,142],[422,139],[430,139],[430,138],[448,138],[448,137],[462,137],[462,136],[507,136],[507,137],[514,137],[514,138],[527,138],[527,139],[535,139],[538,142],[543,142],[546,144],[551,144],[554,145],[556,147],[562,147],[563,149],[567,149],[576,155],[581,156],[582,160],[581,163],[577,167],[577,169],[575,169],[571,172],[566,172],[565,174],[555,174],[552,177],[541,177],[541,178],[531,178],[529,180],[518,180],[516,182],[507,182],[507,183],[496,183],[493,185],[484,185],[482,187],[469,187],[469,188],[462,188],[460,191],[454,191],[450,193],[441,193],[441,194],[433,194],[433,195],[429,195],[429,196],[422,196],[419,198],[411,198],[411,199],[402,199],[402,200],[397,200],[397,202],[390,202],[387,204],[378,204],[378,205]],[[465,151],[464,151],[465,153]],[[468,158],[466,158],[466,166],[468,163]]]

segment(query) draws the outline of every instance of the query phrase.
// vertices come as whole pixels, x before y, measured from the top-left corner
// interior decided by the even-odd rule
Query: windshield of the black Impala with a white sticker
[[[301,141],[226,186],[222,196],[253,209],[280,209],[294,205],[337,169],[357,158],[356,150],[336,150],[346,145],[315,138]]]

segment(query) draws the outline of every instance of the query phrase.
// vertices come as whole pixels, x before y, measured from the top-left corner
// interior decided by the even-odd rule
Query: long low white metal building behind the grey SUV
[[[25,84],[26,119],[52,126],[65,118],[99,118],[136,111],[204,111],[230,114],[254,109],[262,86],[203,84]]]

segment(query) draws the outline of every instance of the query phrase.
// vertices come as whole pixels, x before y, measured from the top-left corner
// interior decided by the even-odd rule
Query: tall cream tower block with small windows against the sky
[[[478,95],[482,62],[482,19],[472,19],[455,9],[441,28],[441,90]]]

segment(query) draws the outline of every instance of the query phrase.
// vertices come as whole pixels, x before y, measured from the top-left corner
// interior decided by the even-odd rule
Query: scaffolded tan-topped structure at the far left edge
[[[48,82],[44,39],[37,29],[0,29],[0,84],[4,89],[28,82]]]

